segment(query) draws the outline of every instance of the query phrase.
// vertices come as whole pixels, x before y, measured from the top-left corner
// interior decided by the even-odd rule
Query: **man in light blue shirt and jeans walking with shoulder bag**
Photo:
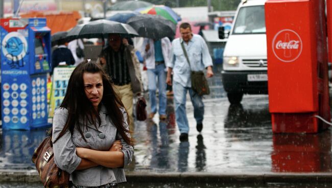
[[[214,76],[214,73],[212,72],[212,59],[204,39],[200,35],[193,34],[191,25],[187,22],[181,23],[180,34],[181,38],[172,41],[172,55],[168,64],[166,82],[172,85],[171,73],[173,71],[176,123],[181,133],[180,140],[183,141],[188,139],[189,132],[185,109],[187,91],[194,106],[196,129],[198,132],[203,129],[204,103],[202,97],[191,88],[191,71],[200,71],[206,68],[207,78]],[[184,50],[188,54],[189,62],[185,57]]]

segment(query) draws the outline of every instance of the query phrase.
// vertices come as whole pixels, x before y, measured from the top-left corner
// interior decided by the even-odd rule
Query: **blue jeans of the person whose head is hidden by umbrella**
[[[156,77],[158,78],[158,90],[159,90],[159,115],[166,114],[166,73],[165,64],[159,64],[154,69],[148,69],[148,82],[149,82],[149,98],[151,105],[151,112],[157,112],[157,99],[156,99]]]

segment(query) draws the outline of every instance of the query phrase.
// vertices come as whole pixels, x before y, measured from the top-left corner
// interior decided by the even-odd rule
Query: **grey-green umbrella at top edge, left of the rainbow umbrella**
[[[107,10],[136,10],[139,8],[153,6],[152,3],[144,2],[144,1],[125,1],[118,2],[109,7]]]

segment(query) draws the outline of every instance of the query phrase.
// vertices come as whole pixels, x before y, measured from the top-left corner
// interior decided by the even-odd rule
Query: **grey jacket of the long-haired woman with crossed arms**
[[[127,113],[124,108],[120,108],[124,116],[124,127],[129,129],[127,123]],[[85,170],[76,170],[81,162],[81,158],[76,155],[76,147],[89,148],[92,150],[108,151],[115,139],[120,139],[123,145],[124,166],[129,165],[132,161],[133,147],[128,145],[122,136],[117,133],[115,126],[109,119],[105,106],[102,106],[99,112],[101,125],[98,130],[93,125],[84,127],[82,122],[83,135],[87,142],[82,138],[78,129],[75,127],[73,135],[69,130],[57,140],[53,145],[56,165],[70,174],[70,179],[76,185],[81,186],[100,186],[107,183],[121,183],[126,181],[123,168],[107,168],[103,166],[92,167]],[[63,129],[68,116],[65,108],[58,108],[54,112],[53,118],[53,142]],[[90,136],[87,136],[90,133]],[[106,136],[99,136],[104,133]],[[130,137],[130,134],[127,133]]]

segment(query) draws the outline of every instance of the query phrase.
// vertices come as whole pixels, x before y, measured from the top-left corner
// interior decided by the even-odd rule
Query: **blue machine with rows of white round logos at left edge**
[[[51,30],[45,18],[0,19],[3,129],[48,125]]]

